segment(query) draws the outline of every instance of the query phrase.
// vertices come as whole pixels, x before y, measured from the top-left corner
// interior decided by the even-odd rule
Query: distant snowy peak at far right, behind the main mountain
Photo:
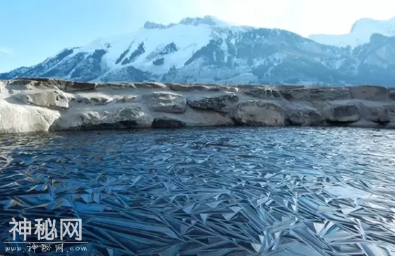
[[[350,33],[346,35],[310,35],[309,39],[324,45],[355,48],[370,42],[370,37],[373,34],[395,36],[395,17],[389,21],[362,18],[354,23]]]

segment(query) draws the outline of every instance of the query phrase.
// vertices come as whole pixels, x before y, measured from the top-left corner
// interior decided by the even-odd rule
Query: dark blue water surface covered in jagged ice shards
[[[79,255],[394,255],[395,131],[7,134],[0,203],[0,250],[51,218],[82,219]]]

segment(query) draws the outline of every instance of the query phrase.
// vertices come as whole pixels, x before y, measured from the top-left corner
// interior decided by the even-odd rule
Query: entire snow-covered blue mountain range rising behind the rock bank
[[[348,35],[312,35],[235,26],[211,16],[64,49],[0,74],[74,81],[395,86],[395,18],[362,19]]]

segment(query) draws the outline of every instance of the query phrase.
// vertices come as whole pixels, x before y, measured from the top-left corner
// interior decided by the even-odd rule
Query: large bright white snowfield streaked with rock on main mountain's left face
[[[184,66],[184,63],[194,52],[208,44],[211,39],[211,25],[202,23],[196,25],[193,21],[187,21],[168,28],[141,28],[136,33],[124,35],[122,37],[107,37],[95,40],[85,47],[78,48],[73,55],[79,52],[93,54],[95,50],[105,50],[103,57],[108,68],[119,69],[124,66],[134,66],[152,74],[165,74],[172,66],[177,69]],[[175,47],[177,50],[166,49]],[[130,62],[122,64],[119,59],[131,57],[139,47],[143,47],[140,54],[135,54]],[[125,53],[125,49],[129,50]],[[122,58],[122,54],[124,54]],[[163,59],[163,64],[153,65],[155,59]]]

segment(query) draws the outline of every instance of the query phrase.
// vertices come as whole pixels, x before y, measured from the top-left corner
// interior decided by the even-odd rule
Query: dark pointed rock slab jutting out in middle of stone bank
[[[239,101],[239,96],[232,93],[218,97],[188,99],[187,104],[190,107],[194,107],[199,110],[214,110],[217,112],[229,112],[232,109],[233,103],[237,103],[238,101]]]

